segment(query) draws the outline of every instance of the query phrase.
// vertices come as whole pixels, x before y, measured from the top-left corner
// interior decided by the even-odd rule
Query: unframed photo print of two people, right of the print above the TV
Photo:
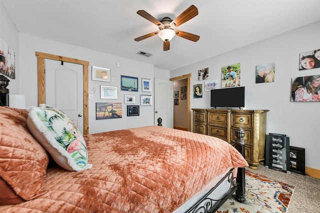
[[[255,66],[255,83],[274,82],[275,63]]]

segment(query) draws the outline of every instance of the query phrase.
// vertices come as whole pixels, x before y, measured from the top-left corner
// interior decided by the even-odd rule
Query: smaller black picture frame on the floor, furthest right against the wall
[[[290,146],[289,158],[290,171],[305,175],[305,149]]]

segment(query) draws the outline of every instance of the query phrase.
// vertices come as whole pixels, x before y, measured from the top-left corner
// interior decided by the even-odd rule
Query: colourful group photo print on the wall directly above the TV
[[[221,88],[240,86],[240,63],[221,67]]]

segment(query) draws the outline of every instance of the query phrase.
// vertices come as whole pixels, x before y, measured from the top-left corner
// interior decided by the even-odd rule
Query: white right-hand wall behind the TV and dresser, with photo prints
[[[193,88],[192,85],[204,82],[197,80],[197,70],[208,67],[209,80],[219,79],[220,88],[221,67],[240,63],[241,86],[245,86],[245,109],[270,110],[267,113],[267,133],[288,135],[291,146],[305,148],[305,166],[320,169],[320,103],[290,102],[292,78],[320,74],[320,68],[298,69],[299,53],[319,49],[319,38],[320,22],[316,22],[172,70],[170,77],[191,73],[190,84]],[[255,66],[270,62],[275,62],[275,82],[255,84]],[[209,108],[210,92],[203,92],[202,99],[191,98],[190,107]]]

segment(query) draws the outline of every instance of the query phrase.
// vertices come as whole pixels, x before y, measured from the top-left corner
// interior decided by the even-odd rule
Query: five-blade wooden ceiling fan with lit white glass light
[[[145,38],[151,37],[153,35],[158,35],[163,40],[163,51],[166,51],[170,49],[170,40],[175,35],[194,41],[194,42],[199,40],[200,38],[200,36],[198,35],[175,29],[175,27],[185,23],[186,21],[190,20],[191,18],[193,18],[198,14],[198,9],[194,5],[189,6],[181,14],[179,14],[174,20],[172,20],[169,17],[164,17],[159,21],[144,10],[138,10],[136,13],[138,15],[141,15],[143,18],[147,19],[148,21],[151,21],[152,23],[157,25],[159,30],[134,38],[135,41],[140,41]]]

